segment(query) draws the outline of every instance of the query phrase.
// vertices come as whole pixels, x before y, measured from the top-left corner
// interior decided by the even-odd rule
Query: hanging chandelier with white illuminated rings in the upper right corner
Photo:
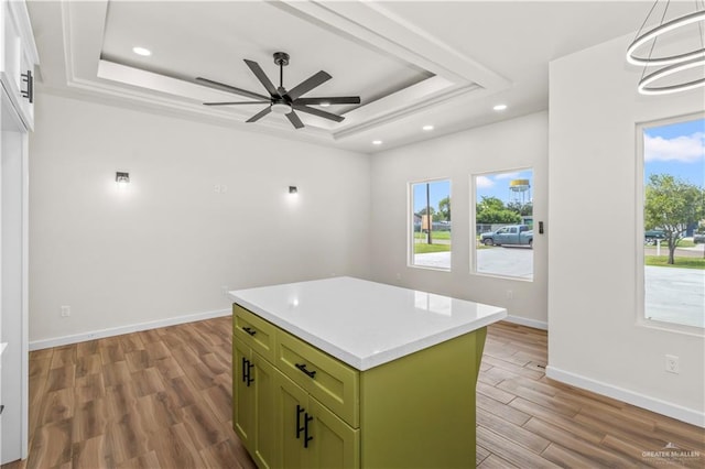
[[[698,3],[699,2],[699,3]],[[649,21],[649,17],[654,11],[659,0],[655,0],[653,7],[649,11],[643,24]],[[703,33],[703,24],[705,23],[705,2],[703,0],[696,0],[695,2],[695,12],[685,14],[683,17],[679,17],[674,20],[670,20],[664,22],[666,11],[669,9],[670,0],[666,0],[666,4],[663,11],[663,15],[661,18],[661,24],[651,30],[641,33],[641,29],[643,29],[643,24],[641,29],[637,32],[637,37],[633,42],[627,47],[627,62],[632,65],[643,65],[643,73],[641,75],[641,79],[639,80],[639,85],[637,86],[637,90],[642,95],[669,95],[679,91],[687,91],[690,89],[699,88],[705,86],[705,78],[699,79],[681,79],[680,81],[675,81],[666,85],[652,85],[658,80],[675,75],[681,74],[684,70],[688,70],[692,68],[699,68],[703,73],[705,73],[705,35]],[[702,4],[702,7],[701,7]],[[703,9],[701,9],[703,8]],[[682,30],[683,28],[697,23],[698,32],[699,32],[699,47],[693,48],[691,51],[681,52],[681,53],[672,53],[672,54],[662,54],[660,56],[653,56],[653,50],[657,44],[657,40],[663,36],[666,33],[671,33],[677,30]],[[651,47],[649,48],[649,54],[647,56],[638,55],[639,50],[641,50],[644,45],[651,42]],[[655,72],[647,75],[648,67],[659,67],[664,66]]]

